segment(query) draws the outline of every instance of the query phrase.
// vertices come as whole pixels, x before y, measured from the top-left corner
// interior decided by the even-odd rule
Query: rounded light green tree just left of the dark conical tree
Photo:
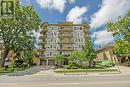
[[[73,51],[69,56],[69,63],[81,66],[84,58],[84,53],[82,51]]]

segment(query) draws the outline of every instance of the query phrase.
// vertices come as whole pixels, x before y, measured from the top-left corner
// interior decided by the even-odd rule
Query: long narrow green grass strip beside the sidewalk
[[[56,73],[82,73],[82,72],[115,72],[117,69],[65,69],[55,70]]]

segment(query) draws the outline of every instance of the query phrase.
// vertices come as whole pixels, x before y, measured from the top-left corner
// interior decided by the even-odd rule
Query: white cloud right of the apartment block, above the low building
[[[92,38],[95,37],[94,44],[104,46],[111,43],[114,40],[112,32],[107,32],[106,30],[94,32]]]

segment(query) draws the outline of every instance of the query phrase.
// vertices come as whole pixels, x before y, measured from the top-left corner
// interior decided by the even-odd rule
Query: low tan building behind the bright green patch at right
[[[113,46],[106,46],[97,50],[96,61],[111,60],[114,64],[118,63],[118,58],[113,50]]]

